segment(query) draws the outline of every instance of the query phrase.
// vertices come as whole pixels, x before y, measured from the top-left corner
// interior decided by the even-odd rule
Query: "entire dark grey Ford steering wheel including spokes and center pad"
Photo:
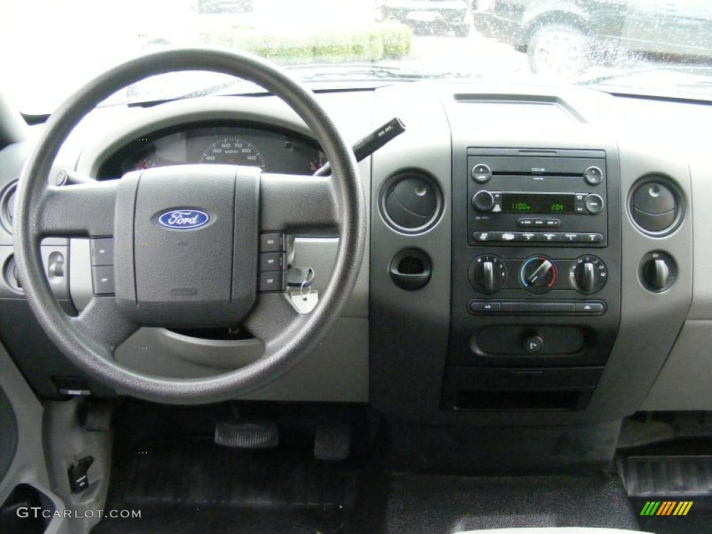
[[[284,100],[320,143],[331,177],[197,164],[129,172],[105,182],[51,184],[58,150],[90,110],[147,76],[182,70],[234,75]],[[169,211],[187,213],[171,221],[164,216]],[[273,381],[313,350],[355,286],[366,241],[365,196],[355,157],[313,93],[260,58],[213,48],[132,59],[68,98],[28,157],[14,224],[23,289],[57,347],[117,392],[172,404],[234,399]],[[340,242],[328,286],[311,313],[298,313],[283,292],[258,292],[261,232],[325,229],[337,231]],[[112,237],[115,295],[95,295],[80,313],[68,315],[43,268],[40,245],[48,236]],[[138,373],[113,356],[141,326],[221,325],[246,328],[262,342],[261,356],[245,367],[199,379]]]

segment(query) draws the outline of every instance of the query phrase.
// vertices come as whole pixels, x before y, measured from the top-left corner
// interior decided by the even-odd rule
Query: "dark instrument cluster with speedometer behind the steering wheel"
[[[143,134],[101,165],[97,179],[150,167],[190,163],[250,165],[266,172],[313,174],[325,164],[315,142],[264,125],[208,122]]]

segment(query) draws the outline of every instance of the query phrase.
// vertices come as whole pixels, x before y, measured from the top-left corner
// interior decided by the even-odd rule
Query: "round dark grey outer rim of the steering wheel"
[[[281,98],[300,116],[320,143],[333,169],[327,182],[315,184],[320,190],[326,187],[331,192],[334,205],[329,209],[333,209],[333,219],[340,234],[333,273],[316,308],[309,315],[295,316],[286,307],[287,298],[283,293],[261,295],[253,313],[267,314],[268,320],[263,318],[262,323],[272,324],[274,321],[273,326],[262,328],[268,338],[263,356],[246,367],[196,379],[143,375],[116,362],[112,357],[115,345],[97,339],[97,333],[109,332],[112,320],[123,325],[125,317],[106,298],[95,298],[94,306],[90,305],[78,318],[67,315],[52,293],[41,257],[41,240],[51,235],[48,228],[57,219],[48,208],[52,205],[48,199],[53,196],[62,198],[58,188],[48,184],[49,175],[61,145],[75,125],[120,88],[150,75],[184,70],[206,70],[251,81]],[[276,183],[281,182],[276,180]],[[89,191],[88,188],[72,187],[77,191],[69,199],[78,199],[80,194]],[[102,191],[108,189],[95,187],[93,190],[100,191],[103,196],[98,198],[103,199],[106,194]],[[80,209],[81,206],[76,207]],[[88,201],[83,207],[88,208]],[[305,209],[309,208],[305,206]],[[219,48],[172,49],[140,56],[98,76],[70,96],[51,115],[28,156],[19,180],[14,221],[15,253],[23,289],[48,337],[71,362],[117,392],[171,404],[233,399],[263,387],[286,372],[318,345],[340,315],[360,272],[366,242],[365,195],[355,157],[313,93],[261,58]],[[93,234],[90,229],[73,228],[65,235]],[[270,306],[276,311],[265,312]],[[100,328],[93,328],[97,322],[102,323]],[[127,320],[127,328],[129,325],[134,324]]]

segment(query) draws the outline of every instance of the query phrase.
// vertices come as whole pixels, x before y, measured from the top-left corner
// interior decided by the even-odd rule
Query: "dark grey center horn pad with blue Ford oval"
[[[260,170],[182,165],[121,179],[116,298],[142,325],[234,325],[255,301]]]

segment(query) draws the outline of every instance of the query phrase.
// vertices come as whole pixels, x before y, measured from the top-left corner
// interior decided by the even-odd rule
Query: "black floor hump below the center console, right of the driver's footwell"
[[[389,534],[513,527],[637,528],[617,476],[400,474],[389,483]]]

